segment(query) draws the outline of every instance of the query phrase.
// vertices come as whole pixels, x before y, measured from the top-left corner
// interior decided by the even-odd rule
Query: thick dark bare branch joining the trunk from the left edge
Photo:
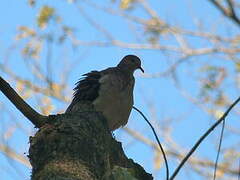
[[[47,116],[43,116],[29,106],[17,92],[0,76],[0,90],[37,128],[45,124]]]

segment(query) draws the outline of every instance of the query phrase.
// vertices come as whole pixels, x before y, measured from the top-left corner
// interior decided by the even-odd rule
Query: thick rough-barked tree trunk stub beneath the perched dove
[[[125,156],[105,118],[92,107],[49,116],[30,137],[29,159],[32,180],[153,179]]]

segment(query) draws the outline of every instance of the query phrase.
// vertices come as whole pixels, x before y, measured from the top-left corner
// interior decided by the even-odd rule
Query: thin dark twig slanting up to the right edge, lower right
[[[228,113],[232,110],[232,108],[240,101],[240,97],[234,101],[233,104],[227,109],[227,111],[223,114],[223,116],[215,122],[208,130],[204,133],[202,137],[196,142],[196,144],[193,146],[193,148],[189,151],[189,153],[183,158],[182,162],[179,164],[179,166],[176,168],[176,170],[173,172],[173,175],[170,177],[170,180],[173,180],[175,176],[178,174],[182,166],[185,164],[185,162],[189,159],[189,157],[195,152],[197,147],[201,144],[201,142],[220,124],[228,115]]]

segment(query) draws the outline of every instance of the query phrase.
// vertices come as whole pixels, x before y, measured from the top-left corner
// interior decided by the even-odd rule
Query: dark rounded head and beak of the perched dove
[[[144,73],[144,70],[141,67],[141,60],[135,55],[125,56],[118,64],[118,67],[129,72],[134,72],[136,69],[140,69]]]

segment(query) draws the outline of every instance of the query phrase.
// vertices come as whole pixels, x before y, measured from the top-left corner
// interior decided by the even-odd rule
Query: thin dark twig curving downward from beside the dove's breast
[[[166,157],[166,154],[165,154],[165,152],[163,150],[163,147],[162,147],[162,145],[161,145],[161,143],[160,143],[160,141],[158,139],[158,136],[157,136],[153,126],[151,125],[151,123],[146,118],[146,116],[138,108],[136,108],[135,106],[133,106],[133,109],[135,109],[137,112],[139,112],[142,115],[142,117],[145,119],[145,121],[148,123],[148,125],[151,127],[151,129],[153,131],[153,134],[154,134],[154,136],[155,136],[155,138],[156,138],[156,140],[158,142],[158,145],[160,147],[160,150],[162,151],[162,154],[163,154],[163,158],[164,158],[164,162],[165,162],[165,166],[166,166],[166,180],[168,180],[169,179],[169,168],[168,168],[167,157]]]

